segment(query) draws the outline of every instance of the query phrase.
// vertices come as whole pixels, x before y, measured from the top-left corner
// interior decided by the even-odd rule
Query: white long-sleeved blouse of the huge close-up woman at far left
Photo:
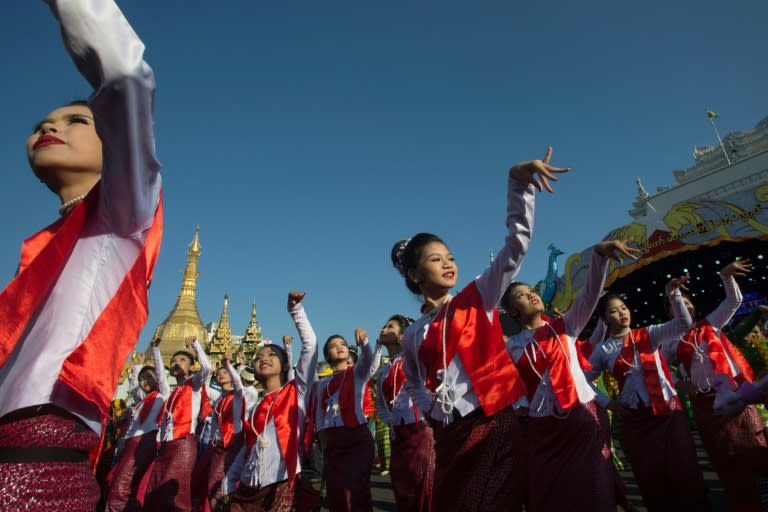
[[[86,221],[53,290],[0,368],[0,416],[54,403],[100,433],[96,407],[57,379],[133,266],[152,225],[161,185],[152,115],[155,80],[142,60],[143,43],[113,2],[49,4],[70,55],[96,91],[90,105],[109,151],[98,211]]]

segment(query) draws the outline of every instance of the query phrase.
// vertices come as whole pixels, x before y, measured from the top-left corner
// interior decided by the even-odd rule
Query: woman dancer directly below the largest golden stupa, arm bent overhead
[[[179,350],[171,357],[171,375],[176,379],[176,388],[165,401],[161,415],[160,449],[144,499],[147,512],[192,509],[190,487],[197,458],[195,432],[198,420],[210,410],[205,383],[211,363],[195,336],[187,337],[184,343],[194,350],[200,371],[191,374],[195,356],[188,350]],[[162,381],[165,375],[158,378]]]

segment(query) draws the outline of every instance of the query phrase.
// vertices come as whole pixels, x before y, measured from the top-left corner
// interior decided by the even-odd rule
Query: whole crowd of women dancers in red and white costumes
[[[733,339],[724,330],[741,304],[737,279],[751,271],[749,255],[721,270],[725,298],[714,311],[699,314],[682,275],[659,290],[669,321],[638,327],[630,299],[604,285],[611,259],[639,251],[600,241],[573,304],[545,311],[515,277],[536,194],[568,172],[551,164],[551,148],[506,173],[503,247],[458,293],[448,245],[419,233],[391,251],[421,299],[418,318],[391,316],[375,340],[357,329],[354,353],[330,336],[325,377],[303,292],[287,301],[301,342],[295,364],[290,349],[270,344],[214,371],[189,338],[166,369],[155,339],[152,364],[134,369],[117,438],[105,442],[162,236],[155,81],[111,0],[47,3],[95,92],[49,113],[27,143],[61,218],[24,242],[0,294],[0,509],[312,510],[317,489],[303,469],[314,465],[331,511],[371,510],[375,414],[391,436],[398,510],[630,510],[612,463],[611,416],[649,510],[709,510],[681,391],[730,509],[763,509],[768,443],[755,404],[766,401],[764,368],[742,354],[750,325]],[[500,307],[515,332],[502,331]],[[593,315],[599,322],[585,339]],[[379,368],[384,348],[389,361]],[[596,385],[605,375],[615,390]],[[243,382],[251,376],[261,393]]]

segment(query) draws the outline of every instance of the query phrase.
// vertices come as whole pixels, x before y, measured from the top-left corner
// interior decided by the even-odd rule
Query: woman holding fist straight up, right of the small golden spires
[[[302,305],[304,297],[297,291],[288,294],[288,312],[301,339],[294,378],[286,380],[289,359],[282,347],[266,345],[256,354],[254,370],[265,395],[248,416],[245,447],[227,473],[225,492],[231,493],[240,480],[237,492],[226,499],[231,512],[292,510],[309,391],[317,380],[317,338]]]

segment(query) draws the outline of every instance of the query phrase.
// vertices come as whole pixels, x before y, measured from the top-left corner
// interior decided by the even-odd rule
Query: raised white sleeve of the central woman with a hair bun
[[[486,309],[492,310],[520,270],[533,233],[535,195],[532,185],[508,178],[507,236],[504,247],[476,279]]]

